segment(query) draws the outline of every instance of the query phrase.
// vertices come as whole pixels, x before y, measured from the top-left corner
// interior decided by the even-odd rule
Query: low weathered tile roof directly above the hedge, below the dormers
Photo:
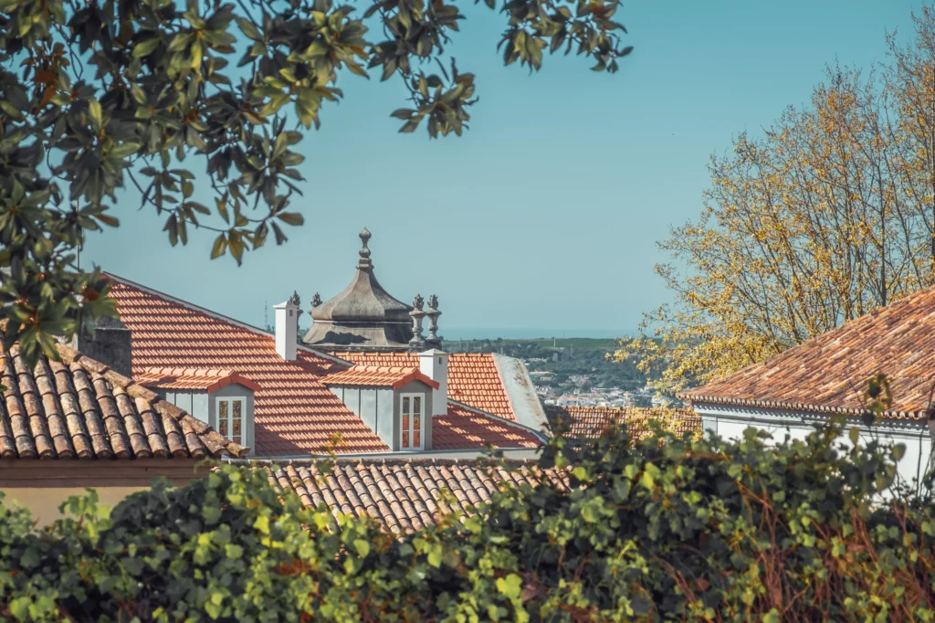
[[[324,502],[336,517],[370,516],[401,534],[423,529],[444,514],[474,514],[505,483],[568,486],[559,471],[520,461],[508,466],[510,470],[493,461],[463,459],[339,459],[324,474],[310,462],[263,469],[270,483],[295,492],[306,507]]]

